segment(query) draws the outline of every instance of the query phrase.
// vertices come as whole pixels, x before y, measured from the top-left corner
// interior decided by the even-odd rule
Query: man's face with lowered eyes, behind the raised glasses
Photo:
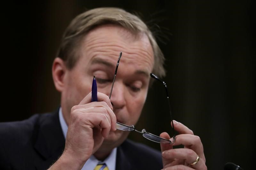
[[[109,96],[117,59],[122,51],[111,102],[117,122],[136,124],[146,100],[149,74],[154,65],[148,37],[145,34],[134,36],[119,26],[104,25],[90,31],[78,50],[80,58],[66,74],[61,96],[63,112],[69,115],[71,107],[91,92],[93,76],[97,80],[98,92]],[[127,135],[120,130],[110,132],[104,143],[120,144]]]

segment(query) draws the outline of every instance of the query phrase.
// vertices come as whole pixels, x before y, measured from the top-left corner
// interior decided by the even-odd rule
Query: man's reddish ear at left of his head
[[[55,88],[62,92],[64,88],[64,76],[67,73],[65,62],[59,57],[55,58],[52,64],[52,78]]]

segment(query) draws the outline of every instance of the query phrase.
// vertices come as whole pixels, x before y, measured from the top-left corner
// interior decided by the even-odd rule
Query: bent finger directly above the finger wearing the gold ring
[[[174,144],[172,144],[173,146],[176,145],[184,145],[185,147],[192,149],[193,151],[195,151],[200,158],[204,159],[204,148],[203,148],[203,144],[201,142],[200,137],[195,136],[195,135],[190,135],[190,134],[181,134],[181,135],[177,135],[176,136],[176,140],[174,142]]]

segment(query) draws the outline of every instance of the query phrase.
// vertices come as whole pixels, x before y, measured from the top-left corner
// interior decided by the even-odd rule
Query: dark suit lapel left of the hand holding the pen
[[[58,112],[59,109],[55,113],[41,115],[36,124],[34,163],[37,169],[49,168],[64,150],[65,139]]]

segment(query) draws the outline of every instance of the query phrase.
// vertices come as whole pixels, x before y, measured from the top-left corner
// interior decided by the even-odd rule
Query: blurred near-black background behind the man
[[[86,9],[124,8],[160,29],[158,42],[173,118],[200,136],[208,169],[234,162],[253,169],[255,158],[255,2],[42,1],[2,4],[0,122],[52,112],[60,94],[51,67],[64,29]],[[157,24],[158,26],[154,25]],[[137,129],[171,132],[163,85],[149,90]],[[138,133],[130,138],[160,150]]]

